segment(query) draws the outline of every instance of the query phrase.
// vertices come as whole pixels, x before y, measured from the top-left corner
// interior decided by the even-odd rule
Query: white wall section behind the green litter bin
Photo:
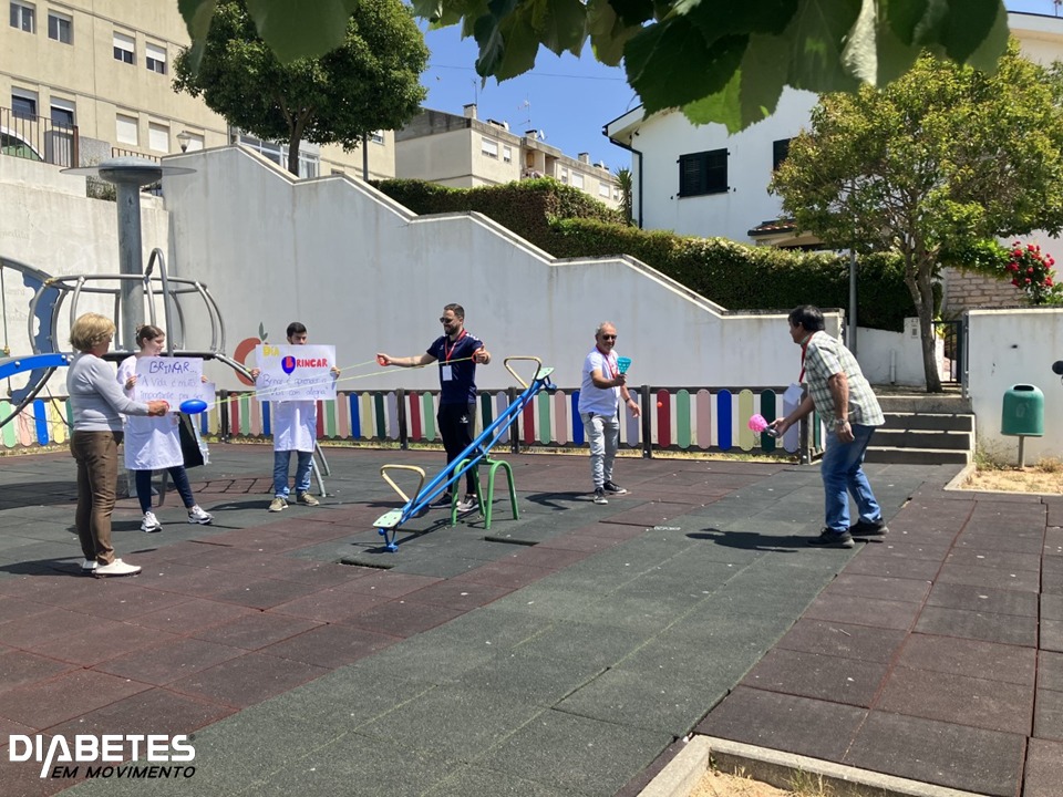
[[[1019,438],[1000,434],[1004,392],[1032,384],[1044,393],[1044,436],[1028,437],[1026,464],[1063,456],[1063,384],[1052,363],[1063,360],[1063,309],[968,312],[971,407],[979,447],[1015,462]]]

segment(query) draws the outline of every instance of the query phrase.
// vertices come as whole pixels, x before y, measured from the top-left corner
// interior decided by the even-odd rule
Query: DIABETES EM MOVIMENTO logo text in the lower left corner
[[[196,748],[188,736],[163,734],[78,734],[8,736],[8,760],[41,765],[42,778],[124,778],[158,780],[190,778]],[[123,764],[123,762],[134,762]],[[145,763],[146,762],[146,763]],[[71,766],[73,765],[73,766]],[[84,765],[84,770],[82,770]]]

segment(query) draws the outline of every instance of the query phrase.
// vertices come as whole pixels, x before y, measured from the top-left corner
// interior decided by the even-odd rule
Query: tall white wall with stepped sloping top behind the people
[[[419,218],[348,177],[293,182],[237,148],[167,163],[196,169],[165,183],[172,271],[208,284],[230,352],[259,324],[282,342],[301,320],[311,342],[336,344],[341,387],[437,387],[436,369],[379,373],[373,358],[425,351],[443,306],[457,302],[494,355],[481,387],[514,384],[502,360],[527,354],[577,386],[602,320],[633,360],[632,384],[780,385],[799,372],[784,315],[724,315],[630,259],[551,260],[483,216]],[[830,324],[837,331],[837,317]],[[208,371],[237,386],[220,366]]]

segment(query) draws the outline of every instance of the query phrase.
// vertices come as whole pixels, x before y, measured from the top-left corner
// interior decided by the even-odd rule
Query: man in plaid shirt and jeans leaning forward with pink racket
[[[875,392],[853,353],[824,332],[823,313],[812,304],[789,313],[789,337],[801,346],[801,380],[808,394],[789,415],[772,423],[782,435],[817,410],[828,425],[826,451],[819,464],[826,497],[826,525],[808,545],[852,548],[853,537],[889,531],[883,510],[864,474],[864,453],[875,427],[886,423]],[[859,519],[849,526],[849,493]]]

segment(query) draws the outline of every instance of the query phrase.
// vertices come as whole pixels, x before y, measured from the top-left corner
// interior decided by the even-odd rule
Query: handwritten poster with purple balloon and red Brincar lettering
[[[269,345],[255,349],[259,401],[332,401],[336,398],[336,346]]]

